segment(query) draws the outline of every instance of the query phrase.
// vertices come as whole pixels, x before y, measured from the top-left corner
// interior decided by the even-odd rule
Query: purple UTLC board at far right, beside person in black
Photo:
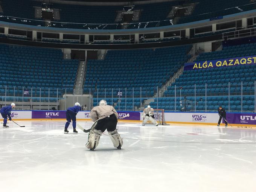
[[[230,124],[256,125],[256,113],[227,113],[226,116]]]

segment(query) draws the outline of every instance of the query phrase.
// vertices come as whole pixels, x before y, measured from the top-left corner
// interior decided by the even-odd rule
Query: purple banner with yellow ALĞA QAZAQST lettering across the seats
[[[256,56],[218,59],[212,61],[198,61],[184,64],[184,70],[211,69],[218,67],[236,67],[239,65],[255,65]]]

